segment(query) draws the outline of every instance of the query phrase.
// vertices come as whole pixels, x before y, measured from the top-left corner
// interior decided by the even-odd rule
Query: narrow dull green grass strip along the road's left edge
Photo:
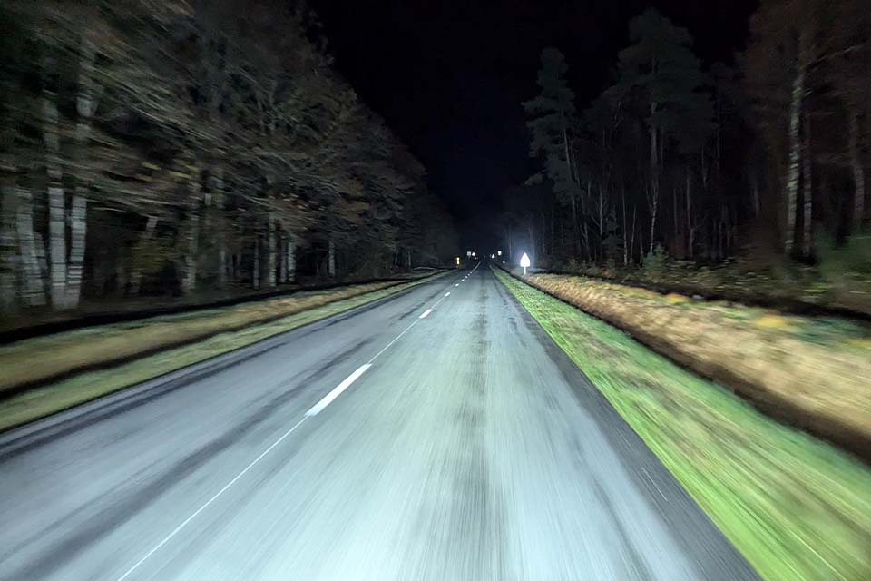
[[[436,274],[435,277],[441,276]],[[210,359],[227,353],[231,350],[240,349],[259,340],[268,339],[279,333],[296,329],[329,316],[350,310],[367,302],[378,300],[403,291],[409,287],[421,284],[432,278],[411,281],[380,291],[368,292],[346,300],[337,300],[311,310],[304,310],[283,319],[274,320],[265,324],[254,324],[242,330],[231,331],[215,335],[207,340],[201,340],[184,347],[161,351],[149,357],[135,359],[108,369],[83,372],[69,379],[57,381],[43,387],[29,389],[15,396],[0,399],[0,431],[25,423],[34,419],[50,416],[58,411],[72,408],[92,399],[131,387],[142,381],[154,379],[192,365],[205,359]],[[329,291],[321,291],[328,293]],[[166,319],[183,320],[185,315],[171,315]],[[126,325],[128,323],[119,323]],[[130,323],[131,325],[145,324],[142,321]],[[38,364],[35,363],[34,364]]]

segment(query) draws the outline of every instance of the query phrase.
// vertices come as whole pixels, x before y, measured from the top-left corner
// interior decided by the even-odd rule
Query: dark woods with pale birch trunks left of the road
[[[455,253],[424,168],[301,3],[6,2],[0,46],[6,312]]]

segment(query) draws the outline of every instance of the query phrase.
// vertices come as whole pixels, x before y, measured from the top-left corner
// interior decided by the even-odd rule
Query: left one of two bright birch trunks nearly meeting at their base
[[[43,139],[45,142],[45,169],[48,173],[48,248],[52,306],[67,307],[66,296],[66,201],[62,183],[64,169],[60,156],[60,133],[57,95],[44,91]]]

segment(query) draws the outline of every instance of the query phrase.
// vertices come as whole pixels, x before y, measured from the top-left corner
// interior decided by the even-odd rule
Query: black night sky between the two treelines
[[[579,109],[611,81],[632,16],[653,5],[707,62],[745,41],[757,0],[311,0],[336,66],[425,164],[464,243],[484,247],[504,188],[533,172],[521,103],[541,49],[566,54]]]

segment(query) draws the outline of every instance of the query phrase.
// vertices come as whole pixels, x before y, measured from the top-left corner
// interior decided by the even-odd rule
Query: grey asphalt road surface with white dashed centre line
[[[756,578],[486,264],[3,435],[0,523],[28,581]]]

